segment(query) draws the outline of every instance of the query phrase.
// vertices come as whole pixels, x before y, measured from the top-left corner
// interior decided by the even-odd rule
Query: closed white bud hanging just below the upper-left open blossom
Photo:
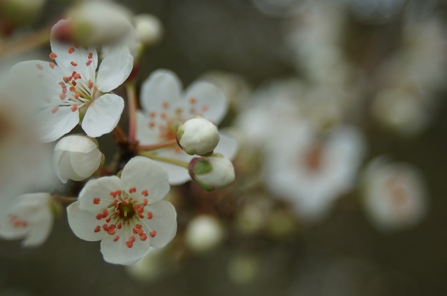
[[[62,138],[54,146],[53,167],[62,182],[89,178],[103,164],[103,153],[97,143],[84,136]]]

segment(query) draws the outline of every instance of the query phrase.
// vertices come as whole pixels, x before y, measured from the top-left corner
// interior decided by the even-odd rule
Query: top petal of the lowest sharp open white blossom
[[[124,166],[121,174],[124,189],[135,187],[135,198],[140,192],[147,190],[150,203],[161,201],[169,192],[169,182],[166,172],[159,164],[146,157],[133,157]]]

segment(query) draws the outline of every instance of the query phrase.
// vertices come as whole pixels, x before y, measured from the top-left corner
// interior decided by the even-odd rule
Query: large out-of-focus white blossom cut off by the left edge
[[[0,81],[0,199],[46,191],[55,181],[52,149],[38,141],[36,109],[24,93],[15,79]]]

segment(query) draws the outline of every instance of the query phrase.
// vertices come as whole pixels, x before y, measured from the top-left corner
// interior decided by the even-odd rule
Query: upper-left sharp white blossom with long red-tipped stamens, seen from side
[[[54,38],[54,32],[66,20],[52,28],[52,52],[47,61],[25,61],[12,69],[34,96],[41,98],[43,110],[37,114],[42,141],[55,141],[81,124],[90,137],[100,137],[116,127],[124,109],[124,100],[110,93],[129,77],[133,57],[126,45],[108,50],[98,71],[94,47],[77,47]]]

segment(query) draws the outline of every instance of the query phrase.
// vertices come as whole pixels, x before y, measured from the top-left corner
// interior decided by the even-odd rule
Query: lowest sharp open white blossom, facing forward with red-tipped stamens
[[[90,180],[78,201],[68,206],[68,223],[82,240],[101,240],[108,263],[130,265],[149,247],[161,248],[177,232],[177,214],[162,199],[168,176],[145,157],[131,159],[117,176]]]

